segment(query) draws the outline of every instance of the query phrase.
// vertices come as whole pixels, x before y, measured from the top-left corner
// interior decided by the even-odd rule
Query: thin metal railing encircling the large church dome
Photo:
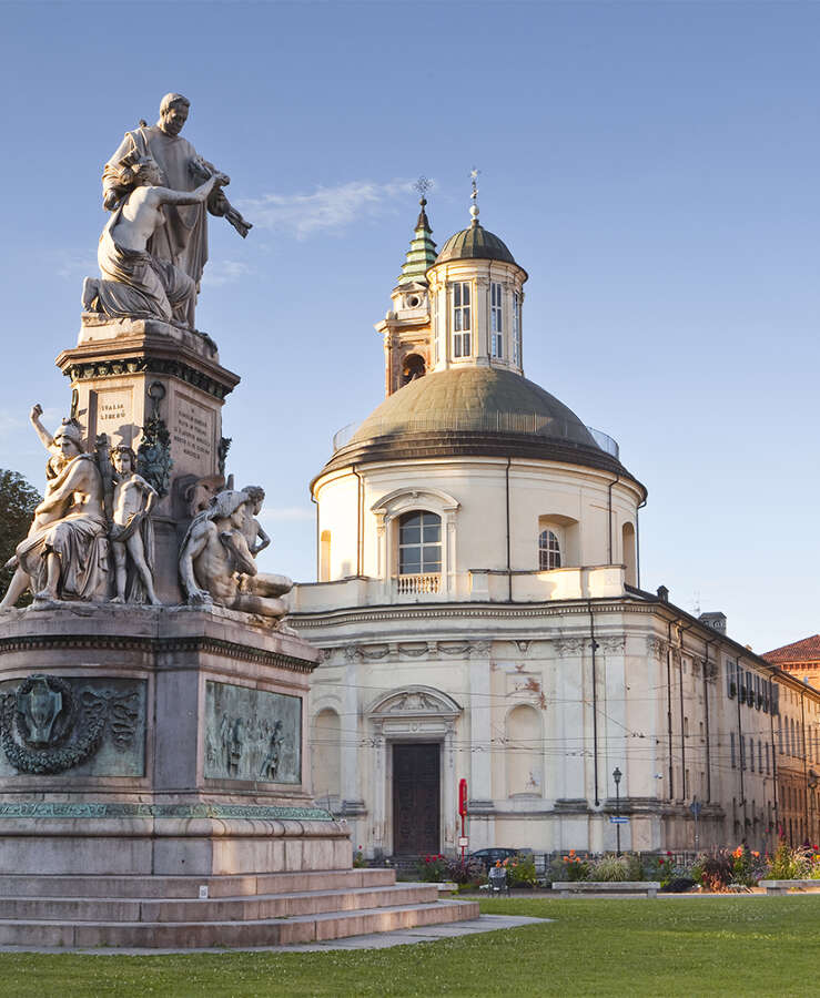
[[[333,437],[334,452],[350,444],[362,422],[348,422]],[[372,436],[389,436],[395,432],[423,434],[427,430],[465,430],[474,432],[503,432],[528,434],[539,437],[559,439],[570,444],[583,446],[584,440],[578,440],[578,424],[554,416],[543,416],[538,413],[467,413],[452,414],[443,425],[441,417],[415,417],[403,420],[401,426],[392,419],[378,419],[368,422]],[[616,460],[620,457],[620,448],[617,440],[591,426],[585,427],[595,445]],[[587,445],[588,446],[588,445]]]

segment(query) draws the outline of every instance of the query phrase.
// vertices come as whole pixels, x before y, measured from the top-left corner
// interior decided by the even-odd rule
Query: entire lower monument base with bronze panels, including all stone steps
[[[477,917],[351,869],[305,775],[316,659],[220,608],[0,617],[0,945],[273,946]]]

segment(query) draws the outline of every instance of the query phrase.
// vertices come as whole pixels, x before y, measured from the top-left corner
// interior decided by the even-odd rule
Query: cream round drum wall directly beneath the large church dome
[[[507,568],[508,498],[513,571],[538,570],[538,536],[547,527],[560,539],[561,568],[620,564],[629,554],[624,527],[635,527],[641,496],[628,480],[611,486],[610,530],[611,482],[594,469],[520,459],[507,469],[494,458],[366,465],[358,477],[331,472],[314,487],[320,534],[331,536],[331,574],[322,581],[356,574],[361,542],[361,573],[387,584],[397,573],[398,518],[424,509],[442,517],[449,546],[444,591],[468,598],[468,572]],[[553,581],[564,595],[560,580]]]

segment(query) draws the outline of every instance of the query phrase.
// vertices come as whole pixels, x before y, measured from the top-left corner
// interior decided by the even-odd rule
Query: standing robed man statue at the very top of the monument
[[[194,191],[217,171],[196,154],[191,143],[180,136],[188,119],[191,102],[181,93],[168,93],[160,104],[160,120],[155,125],[144,123],[133,132],[126,132],[117,152],[105,164],[102,174],[103,205],[110,212],[128,197],[136,185],[132,166],[151,156],[162,171],[162,185],[172,191]],[[158,259],[172,263],[188,274],[199,291],[202,272],[207,261],[206,212],[227,218],[244,238],[251,228],[242,215],[231,206],[222,191],[214,187],[202,204],[164,204],[164,222],[149,240],[146,252]],[[194,328],[195,295],[174,307],[178,322]]]

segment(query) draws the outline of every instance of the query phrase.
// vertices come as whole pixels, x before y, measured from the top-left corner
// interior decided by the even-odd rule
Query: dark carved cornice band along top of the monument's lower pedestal
[[[316,664],[306,659],[284,655],[281,652],[253,648],[225,641],[221,638],[194,635],[184,638],[143,638],[118,634],[27,634],[13,638],[0,638],[0,656],[21,651],[48,649],[112,649],[118,651],[139,651],[156,654],[194,653],[215,654],[242,662],[256,662],[285,669],[291,672],[310,674]]]

